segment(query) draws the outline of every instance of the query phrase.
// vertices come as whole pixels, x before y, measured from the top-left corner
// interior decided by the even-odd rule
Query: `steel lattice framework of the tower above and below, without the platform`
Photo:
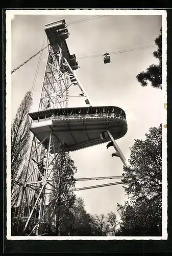
[[[80,96],[86,96],[73,73],[73,70],[78,68],[75,55],[67,56],[70,64],[66,59],[66,50],[68,53],[68,49],[66,49],[65,39],[68,37],[68,31],[65,28],[65,21],[60,20],[55,25],[56,30],[57,28],[60,29],[56,35],[59,38],[59,44],[58,42],[56,44],[50,43],[48,46],[48,58],[38,111],[67,108],[69,88],[71,86],[79,86],[81,90]],[[47,25],[47,27],[54,28],[54,24]],[[71,67],[70,65],[73,66]],[[88,99],[85,99],[88,103]],[[45,215],[45,186],[47,185],[47,180],[48,182],[50,181],[53,167],[60,152],[60,149],[59,152],[55,152],[54,136],[56,135],[50,133],[50,138],[46,142],[44,140],[39,141],[35,135],[33,137],[27,175],[17,216],[18,221],[24,223],[23,230],[26,230],[29,225],[35,226],[34,224],[38,224]],[[34,230],[38,234],[37,226],[35,226]]]

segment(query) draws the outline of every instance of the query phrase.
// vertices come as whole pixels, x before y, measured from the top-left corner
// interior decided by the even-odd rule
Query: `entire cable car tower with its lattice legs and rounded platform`
[[[45,33],[50,42],[48,58],[38,112],[29,114],[32,118],[30,130],[33,141],[17,214],[18,223],[23,225],[23,231],[29,235],[41,233],[41,224],[48,207],[56,204],[54,201],[47,205],[47,194],[62,150],[72,152],[109,142],[107,148],[114,146],[116,150],[112,155],[120,157],[126,165],[125,157],[115,142],[127,133],[125,112],[117,106],[90,105],[74,73],[78,69],[78,62],[75,54],[70,55],[66,44],[69,33],[64,19],[45,25]],[[89,106],[68,108],[69,88],[73,86],[80,89],[79,97],[83,97]],[[113,178],[121,177],[109,177]]]

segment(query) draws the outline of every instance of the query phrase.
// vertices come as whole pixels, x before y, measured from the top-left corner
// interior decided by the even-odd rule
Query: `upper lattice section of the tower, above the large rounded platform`
[[[53,47],[48,47],[48,59],[41,92],[39,111],[55,108],[67,108],[69,88],[78,86],[81,90],[80,96],[85,96],[76,75],[73,73],[68,61],[63,56],[64,50],[59,48],[54,52]],[[74,59],[74,58],[73,58]],[[78,65],[73,67],[78,68]]]

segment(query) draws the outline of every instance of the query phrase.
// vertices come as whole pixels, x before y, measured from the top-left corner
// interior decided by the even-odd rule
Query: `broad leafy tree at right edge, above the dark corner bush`
[[[152,127],[146,139],[135,140],[122,184],[131,199],[162,196],[162,125]]]

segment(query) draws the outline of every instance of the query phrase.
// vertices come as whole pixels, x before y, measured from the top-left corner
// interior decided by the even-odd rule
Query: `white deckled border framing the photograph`
[[[162,16],[162,236],[161,237],[25,237],[11,236],[11,20],[13,15],[161,15]],[[165,10],[6,10],[6,144],[8,240],[167,240],[167,14]]]

